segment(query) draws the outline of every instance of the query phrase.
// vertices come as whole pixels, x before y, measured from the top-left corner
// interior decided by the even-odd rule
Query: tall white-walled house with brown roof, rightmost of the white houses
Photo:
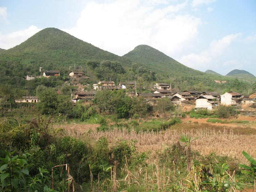
[[[243,99],[243,95],[237,92],[226,92],[220,95],[221,105],[238,105]]]

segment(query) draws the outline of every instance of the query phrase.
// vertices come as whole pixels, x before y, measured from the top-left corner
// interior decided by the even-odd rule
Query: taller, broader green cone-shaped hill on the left
[[[5,57],[5,58],[4,58]],[[20,58],[47,69],[59,66],[84,65],[87,60],[118,60],[129,63],[118,55],[104,51],[57,28],[45,28],[25,42],[4,51],[0,59]]]

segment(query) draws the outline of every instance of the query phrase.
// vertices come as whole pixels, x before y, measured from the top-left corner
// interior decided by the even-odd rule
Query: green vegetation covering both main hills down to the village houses
[[[90,65],[93,62],[98,64]],[[112,78],[116,83],[137,81],[140,88],[146,89],[152,88],[152,84],[157,81],[172,83],[176,91],[252,91],[250,82],[188,68],[147,45],[139,45],[119,57],[56,28],[43,29],[22,44],[0,51],[0,82],[26,87],[24,76],[42,75],[39,67],[60,70],[61,76],[65,78],[75,64],[90,77],[90,81],[87,81],[89,84]],[[113,65],[117,67],[113,68]],[[214,80],[227,82],[219,84]]]

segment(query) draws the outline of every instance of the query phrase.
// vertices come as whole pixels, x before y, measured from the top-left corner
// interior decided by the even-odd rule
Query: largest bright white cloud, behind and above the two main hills
[[[168,4],[156,8],[152,2]],[[76,26],[63,30],[118,55],[139,44],[148,44],[170,55],[196,36],[202,24],[200,18],[178,13],[186,6],[187,1],[173,5],[161,0],[148,4],[139,0],[89,3]]]

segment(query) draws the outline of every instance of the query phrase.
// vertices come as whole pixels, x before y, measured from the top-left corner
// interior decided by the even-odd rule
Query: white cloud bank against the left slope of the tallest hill
[[[0,48],[9,49],[12,48],[23,41],[27,40],[30,36],[34,35],[41,29],[37,28],[34,25],[31,25],[29,28],[15,31],[13,33],[2,35],[0,33]]]

